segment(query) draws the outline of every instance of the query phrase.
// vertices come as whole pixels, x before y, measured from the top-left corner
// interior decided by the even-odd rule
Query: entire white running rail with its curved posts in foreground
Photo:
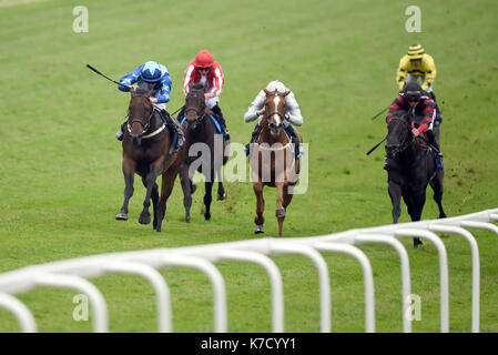
[[[203,272],[213,287],[213,324],[215,332],[227,332],[227,303],[223,275],[215,266],[221,261],[243,261],[262,266],[270,276],[272,292],[272,332],[285,332],[284,292],[281,272],[271,255],[295,254],[308,257],[317,270],[319,282],[319,331],[333,328],[328,265],[321,253],[345,253],[362,265],[365,292],[365,332],[375,332],[375,290],[370,262],[355,245],[383,243],[393,247],[402,273],[403,332],[411,332],[409,311],[410,270],[408,254],[398,239],[419,236],[430,241],[437,250],[440,277],[440,332],[449,332],[448,260],[446,247],[437,233],[463,236],[470,246],[471,257],[471,332],[479,332],[480,260],[478,244],[468,229],[480,229],[498,235],[498,209],[478,213],[420,222],[382,225],[350,230],[313,237],[265,237],[238,242],[156,248],[126,253],[111,253],[31,265],[0,274],[0,307],[10,312],[21,332],[37,332],[37,323],[29,308],[16,295],[35,287],[65,287],[85,294],[92,305],[94,332],[109,332],[108,306],[102,293],[87,278],[111,273],[139,275],[146,278],[155,292],[157,331],[173,332],[170,290],[159,273],[164,267],[193,267]]]

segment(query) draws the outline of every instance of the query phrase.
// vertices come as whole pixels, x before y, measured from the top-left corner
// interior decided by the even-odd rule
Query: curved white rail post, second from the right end
[[[430,231],[416,229],[399,229],[394,231],[395,236],[418,236],[425,237],[433,242],[439,255],[439,278],[440,278],[440,318],[441,333],[449,332],[449,285],[448,285],[448,256],[446,254],[445,244],[441,240]]]

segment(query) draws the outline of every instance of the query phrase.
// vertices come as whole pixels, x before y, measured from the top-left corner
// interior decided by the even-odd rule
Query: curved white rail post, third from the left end
[[[157,331],[171,333],[173,331],[171,321],[171,295],[170,288],[154,267],[135,262],[106,262],[102,268],[109,273],[135,274],[146,278],[155,291],[157,303]]]

